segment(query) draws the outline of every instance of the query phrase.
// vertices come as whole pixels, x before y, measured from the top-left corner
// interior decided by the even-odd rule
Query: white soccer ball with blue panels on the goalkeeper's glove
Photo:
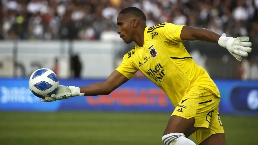
[[[29,79],[30,91],[39,98],[49,97],[57,91],[59,80],[50,69],[41,68],[32,73]]]

